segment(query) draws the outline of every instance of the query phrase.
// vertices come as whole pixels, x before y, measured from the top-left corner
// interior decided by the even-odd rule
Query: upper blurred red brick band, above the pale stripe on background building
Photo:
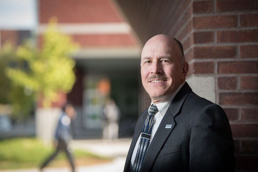
[[[39,23],[52,16],[60,23],[121,22],[110,0],[40,0]]]

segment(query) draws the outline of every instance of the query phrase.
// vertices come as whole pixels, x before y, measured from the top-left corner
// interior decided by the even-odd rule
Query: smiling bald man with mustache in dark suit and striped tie
[[[125,162],[129,171],[234,171],[228,118],[185,82],[188,63],[175,38],[144,45],[141,78],[151,106],[139,117]]]

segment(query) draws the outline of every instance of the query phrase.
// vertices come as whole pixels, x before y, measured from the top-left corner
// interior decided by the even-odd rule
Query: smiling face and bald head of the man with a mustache
[[[141,56],[142,84],[152,101],[161,102],[185,80],[180,49],[174,40],[164,36],[151,38]]]

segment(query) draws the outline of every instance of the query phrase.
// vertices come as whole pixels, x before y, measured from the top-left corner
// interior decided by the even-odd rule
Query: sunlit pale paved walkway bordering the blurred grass
[[[121,172],[124,169],[125,159],[131,144],[131,139],[107,140],[75,140],[71,146],[75,149],[88,150],[93,153],[114,158],[110,163],[80,166],[76,172]],[[1,172],[39,172],[38,169],[0,170]],[[45,168],[43,172],[70,172],[68,168]]]

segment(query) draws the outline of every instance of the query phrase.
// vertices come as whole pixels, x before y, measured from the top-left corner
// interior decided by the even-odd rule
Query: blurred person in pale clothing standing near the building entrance
[[[103,118],[105,120],[103,129],[103,138],[115,140],[118,138],[118,120],[120,109],[117,107],[113,99],[107,100],[106,106],[103,109]]]

